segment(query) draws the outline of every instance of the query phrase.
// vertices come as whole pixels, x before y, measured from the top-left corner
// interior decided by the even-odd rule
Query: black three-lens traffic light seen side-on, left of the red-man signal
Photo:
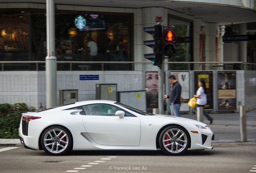
[[[154,49],[154,53],[144,54],[144,56],[146,59],[153,61],[155,66],[161,66],[163,64],[163,25],[145,27],[144,31],[154,37],[154,40],[144,41],[146,46]]]

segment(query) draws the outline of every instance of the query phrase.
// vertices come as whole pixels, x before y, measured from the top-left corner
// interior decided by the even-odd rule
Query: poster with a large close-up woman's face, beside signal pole
[[[147,111],[158,108],[158,72],[145,72]]]

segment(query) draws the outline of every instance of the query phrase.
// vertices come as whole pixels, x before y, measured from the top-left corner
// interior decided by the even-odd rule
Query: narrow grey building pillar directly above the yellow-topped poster
[[[194,62],[202,61],[202,18],[194,18]],[[202,64],[194,64],[194,70],[202,70]]]

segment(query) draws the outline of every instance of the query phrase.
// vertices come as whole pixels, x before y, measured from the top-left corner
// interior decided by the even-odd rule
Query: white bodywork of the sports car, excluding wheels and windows
[[[95,103],[115,105],[115,101],[83,101],[38,113],[24,113],[23,115],[41,118],[29,121],[28,136],[23,135],[21,121],[19,135],[27,147],[38,150],[43,131],[50,126],[62,126],[72,134],[73,150],[156,150],[159,131],[168,125],[179,125],[190,135],[190,149],[213,148],[211,145],[213,131],[199,121],[167,115],[140,115],[119,105],[115,106],[136,117],[80,115],[81,110],[65,110]],[[206,129],[198,129],[194,124],[204,126]],[[202,134],[208,136],[204,144],[202,144]]]

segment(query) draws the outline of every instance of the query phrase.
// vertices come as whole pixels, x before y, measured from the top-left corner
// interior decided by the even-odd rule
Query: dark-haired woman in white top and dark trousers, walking
[[[198,86],[199,88],[196,91],[196,95],[194,95],[194,97],[196,97],[196,107],[204,108],[204,105],[207,103],[207,91],[204,80],[200,79]],[[213,123],[213,118],[210,117],[206,111],[204,111],[204,116],[210,121],[210,124]]]

